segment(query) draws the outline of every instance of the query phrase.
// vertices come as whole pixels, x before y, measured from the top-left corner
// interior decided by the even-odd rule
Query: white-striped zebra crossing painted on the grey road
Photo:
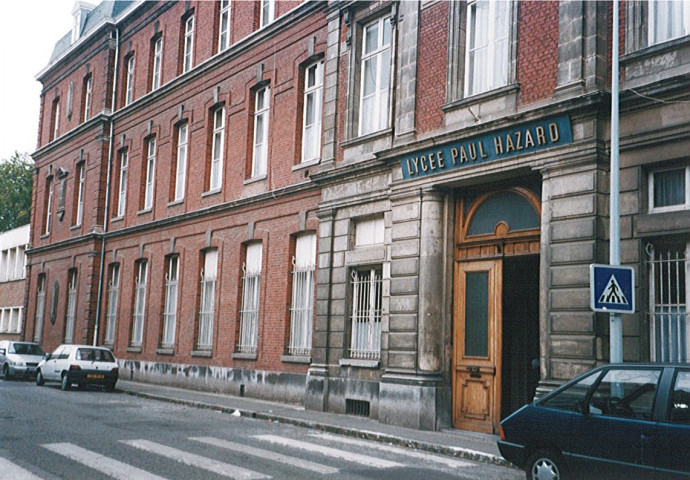
[[[296,440],[277,435],[258,434],[247,438],[250,444],[240,444],[219,437],[195,436],[186,438],[186,440],[190,441],[192,447],[194,445],[201,447],[204,455],[147,439],[128,439],[115,443],[123,446],[128,452],[144,452],[146,455],[155,457],[156,464],[163,459],[165,462],[183,464],[187,467],[209,472],[213,474],[213,478],[237,480],[282,478],[279,472],[280,468],[284,467],[304,472],[302,475],[298,474],[296,478],[319,478],[319,476],[328,477],[329,475],[333,475],[332,478],[336,476],[341,478],[346,469],[361,469],[362,466],[387,470],[411,465],[419,467],[423,463],[425,468],[443,468],[447,471],[456,472],[471,470],[471,467],[474,466],[474,464],[462,460],[423,454],[391,445],[379,445],[364,440],[338,437],[324,433],[310,434],[308,438],[310,441]],[[86,447],[68,442],[44,443],[40,444],[40,447],[63,459],[75,462],[80,468],[87,467],[101,474],[93,478],[172,480],[172,478],[167,476],[161,476],[158,473],[114,458],[117,455],[112,447],[104,446],[103,448],[106,451],[97,451],[93,446]],[[209,447],[222,452],[220,456],[222,456],[223,460],[205,456]],[[279,453],[276,451],[278,449],[289,454]],[[358,453],[352,450],[364,450],[367,453]],[[372,452],[376,451],[384,453],[384,455],[371,455]],[[308,460],[298,456],[300,454],[304,456],[305,452],[306,456],[309,457]],[[292,455],[293,453],[294,456]],[[130,458],[129,455],[126,456]],[[254,466],[248,465],[245,461],[247,457],[261,460],[261,462],[255,463]],[[424,461],[422,462],[422,460]],[[280,468],[276,468],[276,463],[280,464]],[[242,466],[239,464],[242,464]],[[256,469],[255,465],[257,464],[260,465],[260,469]],[[248,466],[255,468],[255,470],[247,468]],[[272,468],[273,470],[271,470]],[[170,469],[168,469],[169,471]],[[2,478],[11,478],[13,480],[52,480],[56,478],[54,474],[46,475],[39,467],[32,469],[25,462],[22,462],[20,465],[2,456],[0,456],[0,472],[2,472]],[[67,478],[60,476],[60,473],[57,475],[57,478]]]

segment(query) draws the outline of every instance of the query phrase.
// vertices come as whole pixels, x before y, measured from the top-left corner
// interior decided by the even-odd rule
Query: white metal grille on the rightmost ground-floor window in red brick
[[[292,271],[292,307],[290,308],[290,355],[311,354],[311,320],[314,314],[314,265]]]

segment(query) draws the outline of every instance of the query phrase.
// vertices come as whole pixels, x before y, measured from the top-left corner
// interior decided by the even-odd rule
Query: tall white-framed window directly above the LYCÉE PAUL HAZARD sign
[[[486,25],[480,25],[480,28],[473,28],[473,19],[476,18],[476,9],[479,5],[488,5],[487,18],[490,20],[488,28]],[[504,31],[501,31],[496,26],[496,19],[498,19],[497,7],[506,8]],[[471,97],[479,95],[496,88],[508,85],[510,79],[510,44],[511,44],[511,14],[513,9],[512,0],[471,0],[467,2],[467,38],[465,48],[465,85],[464,96]],[[475,33],[485,32],[486,43],[482,45],[475,45],[477,35]],[[505,44],[505,45],[503,45]],[[474,47],[473,47],[474,46]],[[479,69],[473,68],[475,65],[474,58],[480,50],[486,50],[484,59],[488,61],[479,61]],[[505,61],[499,62],[501,59],[501,52]],[[481,60],[481,59],[480,59]],[[500,65],[497,68],[496,63]],[[500,70],[499,70],[500,69]],[[482,81],[481,76],[484,76],[485,81]]]

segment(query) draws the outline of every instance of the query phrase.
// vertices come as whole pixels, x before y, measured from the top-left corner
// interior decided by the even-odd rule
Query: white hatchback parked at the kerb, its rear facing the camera
[[[117,360],[109,349],[65,344],[38,364],[36,385],[60,382],[63,390],[69,390],[74,383],[80,388],[99,385],[112,392],[117,378]]]

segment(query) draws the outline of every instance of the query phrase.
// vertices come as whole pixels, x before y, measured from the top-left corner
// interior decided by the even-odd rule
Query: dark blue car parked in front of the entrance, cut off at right
[[[501,422],[531,480],[690,479],[690,365],[596,368]]]

